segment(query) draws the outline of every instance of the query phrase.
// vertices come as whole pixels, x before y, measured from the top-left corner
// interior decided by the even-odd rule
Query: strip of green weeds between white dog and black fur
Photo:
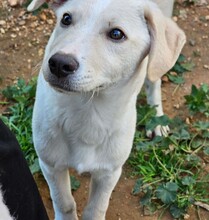
[[[18,79],[13,86],[8,86],[2,94],[11,103],[6,115],[1,119],[14,132],[21,146],[24,156],[32,171],[39,170],[37,155],[32,143],[31,118],[36,90],[36,78],[29,83]]]

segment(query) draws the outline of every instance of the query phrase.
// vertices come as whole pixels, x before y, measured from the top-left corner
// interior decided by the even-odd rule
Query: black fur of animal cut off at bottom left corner
[[[3,202],[13,219],[49,219],[19,144],[1,120],[0,190],[3,195]]]

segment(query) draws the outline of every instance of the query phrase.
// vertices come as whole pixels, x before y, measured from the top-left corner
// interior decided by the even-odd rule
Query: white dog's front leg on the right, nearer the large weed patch
[[[121,168],[92,174],[88,204],[82,220],[105,220],[111,193],[121,175]]]

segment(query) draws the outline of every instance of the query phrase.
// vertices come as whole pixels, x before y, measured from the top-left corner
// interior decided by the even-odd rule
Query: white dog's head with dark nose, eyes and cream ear
[[[46,0],[33,0],[28,10]],[[175,63],[184,33],[147,0],[52,0],[57,24],[46,48],[45,80],[65,91],[104,89],[133,75],[148,55],[155,81]]]

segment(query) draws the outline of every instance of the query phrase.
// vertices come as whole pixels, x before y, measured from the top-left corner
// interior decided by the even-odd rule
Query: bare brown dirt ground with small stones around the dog
[[[187,43],[183,54],[195,64],[195,68],[185,74],[185,83],[176,86],[164,79],[163,105],[165,113],[170,117],[181,116],[186,120],[188,112],[184,105],[184,95],[190,93],[191,85],[209,84],[209,4],[201,1],[200,5],[184,6],[177,1],[174,10],[174,20],[185,31]],[[11,8],[6,0],[0,2],[0,88],[14,83],[18,77],[30,79],[38,73],[44,48],[54,25],[54,16],[48,10],[33,16],[23,7]],[[0,94],[0,100],[3,97]],[[1,112],[4,106],[0,107]],[[192,120],[191,120],[192,123]],[[74,175],[75,172],[72,171]],[[89,176],[76,177],[81,187],[74,192],[78,213],[81,216],[87,201]],[[40,175],[35,180],[44,200],[50,219],[53,219],[53,209],[48,187]],[[139,197],[131,194],[135,179],[130,177],[128,165],[117,187],[112,193],[107,220],[157,220],[159,213],[144,216],[139,205]],[[163,220],[171,220],[166,213]],[[199,216],[195,208],[189,211],[189,220],[209,220],[209,212],[200,209]]]

